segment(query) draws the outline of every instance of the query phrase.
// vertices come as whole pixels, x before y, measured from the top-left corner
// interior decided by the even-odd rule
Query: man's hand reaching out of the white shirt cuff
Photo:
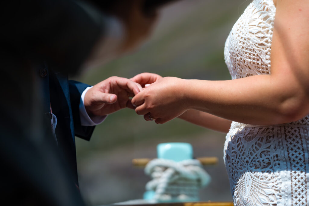
[[[142,87],[127,78],[110,77],[89,89],[84,105],[89,116],[104,116],[122,108],[135,107],[129,97],[134,97]]]

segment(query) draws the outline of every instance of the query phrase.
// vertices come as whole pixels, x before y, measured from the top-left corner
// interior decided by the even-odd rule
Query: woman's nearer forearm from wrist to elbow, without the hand
[[[308,96],[291,77],[256,75],[226,81],[184,80],[189,109],[247,124],[282,124],[306,116]],[[286,82],[286,83],[284,83]]]

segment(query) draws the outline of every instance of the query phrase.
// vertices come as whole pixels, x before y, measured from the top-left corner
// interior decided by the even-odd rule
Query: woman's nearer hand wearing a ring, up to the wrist
[[[157,80],[132,99],[132,104],[137,106],[136,113],[144,115],[147,121],[154,118],[157,124],[180,116],[188,110],[188,101],[183,93],[185,81],[176,77]]]

